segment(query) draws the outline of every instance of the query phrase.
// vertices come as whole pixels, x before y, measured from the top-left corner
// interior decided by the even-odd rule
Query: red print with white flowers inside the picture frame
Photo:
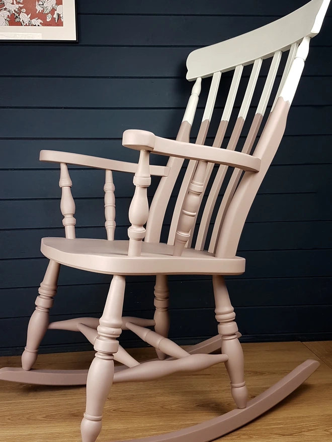
[[[0,0],[1,26],[63,26],[63,0]]]

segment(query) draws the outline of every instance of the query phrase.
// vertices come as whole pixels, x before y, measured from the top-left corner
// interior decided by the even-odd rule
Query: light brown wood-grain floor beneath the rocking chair
[[[243,344],[251,398],[306,359],[318,370],[296,392],[256,421],[223,437],[224,442],[331,442],[332,342]],[[133,350],[137,359],[152,349]],[[93,353],[42,355],[38,368],[88,368]],[[20,358],[0,358],[0,367]],[[37,368],[37,367],[36,367]],[[79,442],[84,387],[41,387],[0,381],[1,442]],[[116,384],[105,407],[100,442],[168,432],[234,408],[223,364],[204,372],[148,383]],[[221,440],[221,439],[219,439]]]

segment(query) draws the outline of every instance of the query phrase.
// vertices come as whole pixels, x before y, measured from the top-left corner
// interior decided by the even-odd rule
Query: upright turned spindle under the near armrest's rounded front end
[[[128,229],[128,256],[141,255],[142,240],[145,237],[144,225],[147,222],[149,214],[147,188],[151,184],[149,154],[149,151],[140,151],[138,168],[133,179],[136,188],[129,207],[129,221],[131,226]]]

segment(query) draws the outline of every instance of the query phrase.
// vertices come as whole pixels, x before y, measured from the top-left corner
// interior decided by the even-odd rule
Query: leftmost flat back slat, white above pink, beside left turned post
[[[221,77],[221,72],[216,72],[213,74],[208,98],[206,101],[206,106],[205,106],[204,113],[203,113],[202,123],[201,123],[200,129],[198,132],[198,136],[196,139],[196,144],[203,145],[205,143],[205,139],[206,139],[207,132],[209,129],[210,121],[212,118],[212,113],[214,110],[214,104],[215,104],[217,93],[218,93],[220,77]],[[184,176],[184,179],[182,181],[182,185],[181,185],[181,188],[179,191],[179,195],[177,198],[175,209],[173,212],[168,244],[171,244],[171,245],[174,244],[176,230],[178,227],[178,222],[179,222],[179,218],[181,216],[181,210],[183,207],[183,202],[184,202],[185,197],[188,193],[188,186],[189,186],[191,180],[193,179],[193,176],[194,176],[194,173],[195,173],[195,170],[197,167],[197,163],[198,163],[198,161],[195,161],[195,160],[189,161],[189,164],[188,164],[188,167],[187,167],[187,170],[186,170],[186,173],[185,173],[185,176]]]

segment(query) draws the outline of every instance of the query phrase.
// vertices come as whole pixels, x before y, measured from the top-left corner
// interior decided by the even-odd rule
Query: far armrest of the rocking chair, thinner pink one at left
[[[112,170],[117,172],[136,173],[138,164],[125,161],[110,160],[108,158],[92,157],[90,155],[72,154],[54,150],[42,150],[40,161],[55,163],[75,164],[77,166],[94,167],[96,169]],[[168,176],[170,168],[167,166],[150,166],[150,174],[156,176]]]

